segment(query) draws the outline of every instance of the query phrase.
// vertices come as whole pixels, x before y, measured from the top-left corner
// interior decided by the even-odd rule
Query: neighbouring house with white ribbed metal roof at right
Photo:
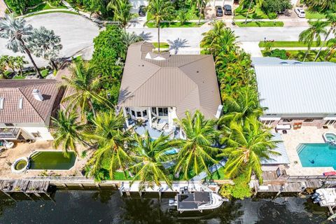
[[[336,64],[253,58],[265,125],[336,125]],[[283,126],[282,126],[283,127]]]

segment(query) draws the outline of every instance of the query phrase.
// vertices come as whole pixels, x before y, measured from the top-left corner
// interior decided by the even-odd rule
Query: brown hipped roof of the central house
[[[127,51],[118,106],[174,106],[177,116],[200,110],[214,118],[221,98],[211,55],[161,55],[151,43]]]

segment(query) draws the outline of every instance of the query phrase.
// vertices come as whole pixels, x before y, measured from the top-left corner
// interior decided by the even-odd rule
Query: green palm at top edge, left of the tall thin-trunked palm
[[[116,0],[111,1],[107,7],[113,9],[114,20],[119,21],[126,30],[127,23],[134,18],[131,13],[132,4],[128,0]]]

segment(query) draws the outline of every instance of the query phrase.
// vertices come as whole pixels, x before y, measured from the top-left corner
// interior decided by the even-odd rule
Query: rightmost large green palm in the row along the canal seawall
[[[272,140],[269,130],[262,128],[258,118],[250,116],[244,124],[232,120],[222,139],[226,148],[218,157],[228,157],[224,172],[230,177],[246,174],[248,179],[254,172],[262,183],[261,161],[269,160],[271,155],[279,155],[273,149],[277,141]]]

